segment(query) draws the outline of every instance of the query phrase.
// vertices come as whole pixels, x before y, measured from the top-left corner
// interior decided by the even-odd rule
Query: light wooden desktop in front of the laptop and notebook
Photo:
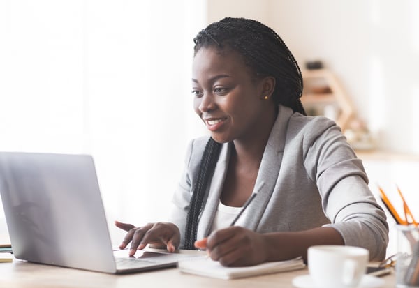
[[[179,272],[177,268],[166,268],[156,271],[134,273],[128,275],[110,275],[82,271],[71,268],[61,268],[34,264],[29,262],[14,261],[12,263],[0,263],[0,287],[8,288],[106,288],[106,287],[293,287],[292,280],[297,275],[307,274],[307,268],[275,273],[270,275],[260,275],[251,278],[241,278],[236,280],[220,280],[215,278],[205,278],[196,275],[189,275]],[[390,288],[395,286],[395,276],[384,276],[385,286]]]

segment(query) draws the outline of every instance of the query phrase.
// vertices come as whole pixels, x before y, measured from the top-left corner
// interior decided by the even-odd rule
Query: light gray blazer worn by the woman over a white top
[[[191,190],[207,139],[200,137],[189,144],[186,167],[172,199],[174,207],[169,220],[180,229],[181,247]],[[223,144],[207,188],[198,239],[211,232],[230,147],[231,144]],[[368,188],[362,161],[335,122],[321,116],[302,116],[279,106],[255,188],[262,182],[258,197],[243,215],[243,227],[260,233],[333,227],[346,245],[367,248],[370,259],[385,257],[388,243],[385,213]]]

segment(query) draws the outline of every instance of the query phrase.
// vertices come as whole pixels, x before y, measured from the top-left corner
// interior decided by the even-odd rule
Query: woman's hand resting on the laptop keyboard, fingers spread
[[[115,221],[115,225],[128,232],[119,245],[120,249],[125,249],[131,242],[129,256],[133,256],[137,250],[142,250],[151,245],[164,245],[169,252],[174,252],[180,243],[180,232],[176,225],[169,222],[149,223],[142,227]]]

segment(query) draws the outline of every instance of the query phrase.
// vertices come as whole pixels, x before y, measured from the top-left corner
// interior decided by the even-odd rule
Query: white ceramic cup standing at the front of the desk
[[[365,248],[341,245],[317,245],[308,250],[309,274],[316,287],[357,287],[369,261]]]

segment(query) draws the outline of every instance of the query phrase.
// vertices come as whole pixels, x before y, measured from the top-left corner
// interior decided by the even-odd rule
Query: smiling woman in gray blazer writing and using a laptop
[[[189,146],[170,222],[116,222],[128,231],[120,247],[196,245],[225,266],[306,259],[320,244],[383,259],[388,225],[362,162],[335,122],[305,116],[300,68],[277,33],[226,18],[194,42],[194,108],[210,136]]]

